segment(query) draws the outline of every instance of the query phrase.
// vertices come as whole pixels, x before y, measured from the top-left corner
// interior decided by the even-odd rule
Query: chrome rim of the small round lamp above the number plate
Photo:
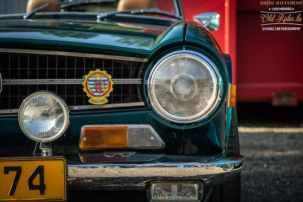
[[[60,103],[63,111],[64,111],[64,115],[65,115],[65,119],[64,119],[64,127],[61,129],[61,131],[59,133],[57,133],[55,136],[53,137],[48,137],[48,138],[33,138],[32,136],[34,136],[32,133],[30,133],[27,129],[26,129],[26,126],[24,124],[24,121],[23,121],[23,112],[24,112],[24,109],[25,107],[27,106],[27,104],[29,103],[29,101],[36,97],[36,96],[51,96],[52,98],[56,99],[57,102]],[[67,104],[65,103],[65,101],[55,92],[51,92],[51,91],[37,91],[37,92],[34,92],[30,95],[28,95],[22,102],[20,108],[19,108],[19,112],[18,112],[18,122],[19,122],[19,125],[20,125],[20,128],[21,130],[23,131],[23,133],[30,139],[34,140],[34,141],[37,141],[37,142],[51,142],[51,141],[54,141],[55,139],[61,137],[61,135],[63,135],[68,126],[69,126],[69,113],[70,113],[70,110],[67,106]]]

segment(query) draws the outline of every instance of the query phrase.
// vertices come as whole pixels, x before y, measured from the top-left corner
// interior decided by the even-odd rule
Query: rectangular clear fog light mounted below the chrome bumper
[[[198,201],[199,183],[187,181],[151,181],[152,201]]]

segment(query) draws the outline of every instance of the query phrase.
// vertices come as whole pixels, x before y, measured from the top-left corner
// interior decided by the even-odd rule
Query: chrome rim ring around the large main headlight
[[[165,63],[166,61],[168,61],[176,56],[191,56],[191,57],[194,57],[195,59],[198,59],[198,61],[202,61],[202,63],[207,64],[206,67],[215,76],[216,92],[215,92],[215,98],[213,100],[213,103],[210,106],[208,106],[208,108],[206,110],[203,110],[205,112],[204,114],[199,113],[197,116],[195,116],[194,118],[191,118],[191,119],[174,118],[168,114],[163,113],[158,108],[158,106],[155,104],[156,102],[155,102],[153,96],[151,96],[151,93],[153,90],[153,87],[151,87],[151,86],[152,86],[153,79],[154,79],[156,72],[158,71],[158,69],[161,67],[161,65],[163,63]],[[153,69],[150,71],[149,75],[147,76],[148,77],[148,80],[147,80],[148,99],[149,99],[149,104],[150,104],[151,108],[161,118],[163,118],[169,122],[178,123],[178,124],[196,123],[196,122],[200,122],[200,121],[208,118],[219,106],[219,103],[220,103],[219,101],[221,100],[222,95],[223,95],[222,77],[221,77],[221,74],[219,73],[217,66],[207,56],[205,56],[203,54],[199,54],[195,51],[188,51],[188,50],[187,51],[176,51],[176,52],[170,53],[170,54],[164,56],[163,58],[161,58],[152,68]]]

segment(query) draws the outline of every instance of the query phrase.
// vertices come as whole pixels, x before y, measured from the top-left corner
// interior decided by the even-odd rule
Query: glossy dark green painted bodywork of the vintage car
[[[148,58],[144,81],[153,65],[168,53],[185,49],[205,54],[217,66],[223,82],[223,96],[215,113],[204,121],[175,125],[152,110],[71,116],[68,130],[52,142],[54,154],[102,153],[80,150],[83,125],[150,124],[166,143],[163,149],[137,150],[138,153],[166,155],[218,155],[226,140],[228,77],[225,61],[216,41],[193,22],[179,21],[170,26],[134,23],[78,21],[70,19],[0,20],[0,48],[45,49]],[[144,87],[144,84],[142,84]],[[146,95],[146,92],[143,92]],[[146,102],[145,96],[145,102]],[[230,117],[229,117],[230,118]],[[17,119],[0,119],[0,156],[31,154],[35,142],[21,131]]]

